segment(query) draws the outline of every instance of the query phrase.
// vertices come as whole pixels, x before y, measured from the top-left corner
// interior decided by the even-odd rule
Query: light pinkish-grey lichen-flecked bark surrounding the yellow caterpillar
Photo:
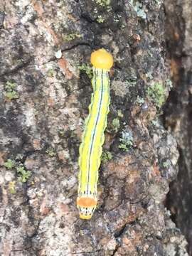
[[[180,127],[174,139],[161,122],[171,85],[165,27],[173,21],[171,11],[178,23],[187,14],[174,1],[166,14],[161,0],[0,3],[0,254],[188,255],[165,207],[178,157],[181,169],[187,157],[176,140],[182,132],[179,142],[186,145],[188,134]],[[180,38],[187,28],[178,28]],[[183,37],[181,43],[179,49],[190,50]],[[85,63],[102,47],[115,61],[112,99],[100,203],[85,221],[75,206],[78,147],[92,92]],[[189,59],[183,62],[185,78]],[[186,99],[183,84],[174,91]],[[188,116],[176,112],[176,118],[186,120],[190,133],[191,112],[182,106]]]

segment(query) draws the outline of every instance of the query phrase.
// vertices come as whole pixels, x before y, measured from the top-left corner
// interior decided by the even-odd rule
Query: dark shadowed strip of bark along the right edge
[[[167,1],[166,32],[174,89],[165,108],[166,127],[178,144],[178,177],[171,183],[168,206],[188,240],[192,255],[192,20],[191,1]]]

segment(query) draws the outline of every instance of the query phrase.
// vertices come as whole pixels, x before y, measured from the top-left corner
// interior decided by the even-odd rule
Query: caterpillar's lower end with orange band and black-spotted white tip
[[[90,220],[97,206],[97,199],[88,196],[82,196],[77,199],[77,206],[80,213],[80,218]]]

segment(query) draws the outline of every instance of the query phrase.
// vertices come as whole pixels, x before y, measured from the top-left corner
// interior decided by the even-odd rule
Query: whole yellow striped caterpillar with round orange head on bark
[[[79,149],[79,185],[77,207],[81,219],[89,220],[97,206],[97,180],[100,168],[104,131],[110,105],[110,78],[108,72],[113,58],[105,49],[91,54],[93,93],[89,114],[85,119],[85,129]]]

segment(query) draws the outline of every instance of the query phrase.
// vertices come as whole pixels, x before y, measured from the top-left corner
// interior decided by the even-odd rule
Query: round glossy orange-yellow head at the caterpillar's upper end
[[[113,65],[113,58],[111,53],[108,53],[105,49],[95,50],[91,54],[91,63],[95,68],[110,70]]]

